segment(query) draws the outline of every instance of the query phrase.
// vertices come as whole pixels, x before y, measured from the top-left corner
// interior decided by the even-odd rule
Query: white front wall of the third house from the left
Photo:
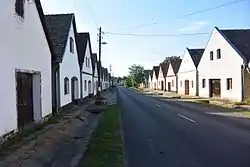
[[[87,64],[86,64],[86,57],[90,60],[89,63],[90,63],[90,66],[87,67]],[[88,73],[88,74],[84,74],[82,73],[82,87],[83,87],[83,97],[87,97],[89,95],[89,88],[88,88],[88,82],[90,81],[91,82],[91,88],[90,88],[90,93],[93,93],[93,89],[92,89],[92,74],[93,74],[93,68],[92,68],[92,61],[91,61],[91,52],[90,52],[90,47],[89,47],[89,41],[87,43],[87,48],[86,48],[86,51],[85,51],[85,57],[84,57],[84,62],[83,62],[83,69],[82,69],[83,72],[85,73]],[[87,82],[87,89],[85,89],[85,80]]]

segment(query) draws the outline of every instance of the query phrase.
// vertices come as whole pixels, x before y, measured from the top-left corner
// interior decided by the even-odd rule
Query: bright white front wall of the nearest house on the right
[[[221,49],[221,59],[217,59],[216,50]],[[214,60],[210,60],[210,51],[214,51]],[[221,98],[241,101],[242,58],[231,45],[214,29],[198,66],[200,96],[209,97],[209,79],[221,79]],[[232,90],[226,90],[226,79],[232,78]],[[202,79],[206,87],[202,88]]]

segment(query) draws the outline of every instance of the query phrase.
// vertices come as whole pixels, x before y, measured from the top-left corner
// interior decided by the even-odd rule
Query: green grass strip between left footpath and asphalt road
[[[120,113],[116,105],[104,111],[89,149],[80,166],[123,167],[123,147],[120,133]]]

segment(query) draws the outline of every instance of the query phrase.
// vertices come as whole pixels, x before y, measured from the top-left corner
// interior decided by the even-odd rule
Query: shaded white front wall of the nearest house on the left
[[[41,100],[33,99],[36,121],[52,112],[51,53],[33,1],[25,4],[24,18],[15,14],[15,0],[1,2],[0,136],[17,129],[16,69],[41,72]]]

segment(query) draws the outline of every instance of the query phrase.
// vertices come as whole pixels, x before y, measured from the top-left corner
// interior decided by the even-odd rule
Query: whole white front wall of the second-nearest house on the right
[[[179,94],[185,94],[185,80],[189,81],[189,95],[195,96],[196,89],[199,86],[198,83],[196,82],[196,67],[187,49],[184,53],[180,69],[178,71]],[[192,81],[193,81],[193,87],[192,87]]]

